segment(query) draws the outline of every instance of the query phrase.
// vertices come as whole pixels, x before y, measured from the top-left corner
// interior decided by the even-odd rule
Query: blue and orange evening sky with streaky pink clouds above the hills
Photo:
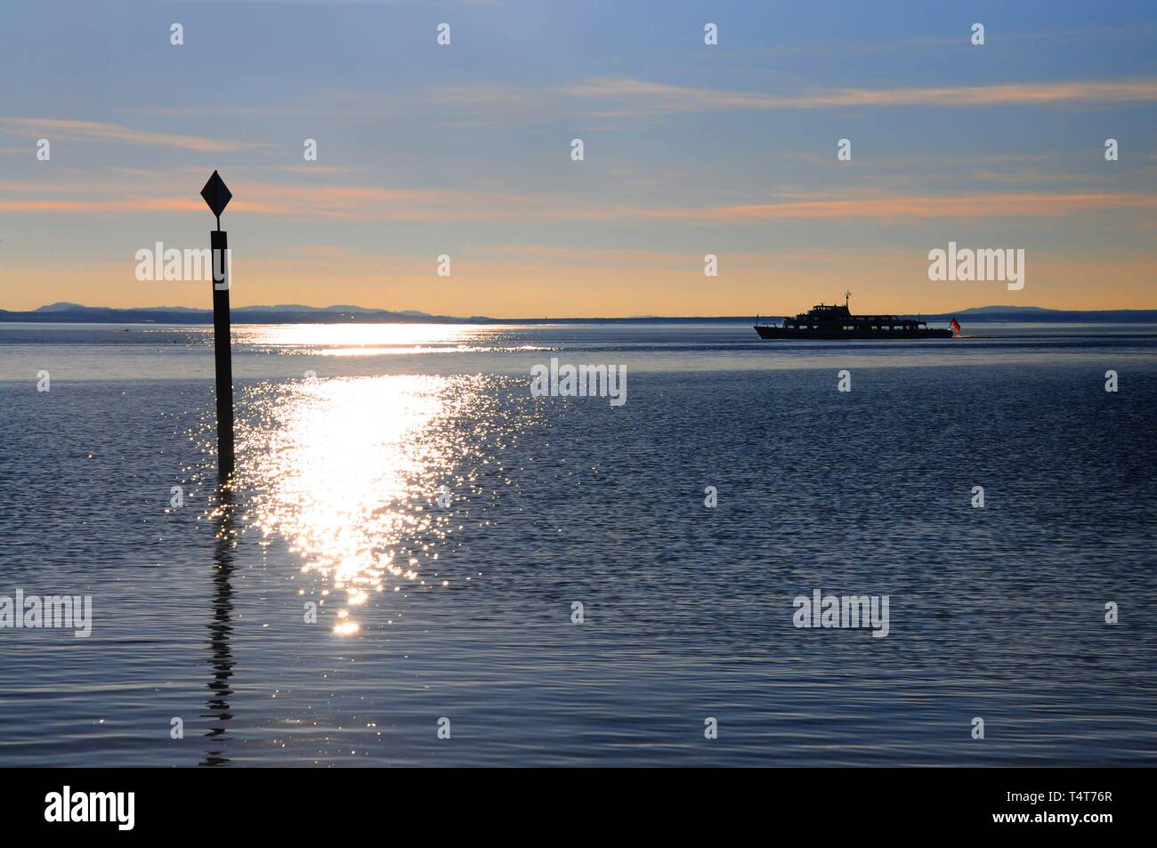
[[[1155,106],[1151,1],[10,3],[0,308],[209,308],[137,253],[208,246],[218,169],[235,307],[1154,309]]]

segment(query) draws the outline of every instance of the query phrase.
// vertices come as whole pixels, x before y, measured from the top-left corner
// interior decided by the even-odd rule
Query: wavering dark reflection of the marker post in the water
[[[229,760],[224,757],[223,744],[228,742],[227,723],[233,718],[229,711],[229,687],[233,677],[233,651],[229,637],[233,635],[233,570],[235,541],[233,492],[228,486],[218,491],[216,511],[213,525],[216,538],[213,543],[213,620],[209,628],[209,670],[212,679],[208,683],[209,696],[202,718],[209,720],[209,729],[205,733],[208,746],[202,766],[224,766]]]

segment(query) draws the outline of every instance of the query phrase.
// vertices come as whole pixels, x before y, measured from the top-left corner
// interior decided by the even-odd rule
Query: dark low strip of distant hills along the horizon
[[[449,315],[429,315],[413,309],[391,311],[364,307],[333,305],[307,307],[302,304],[279,304],[237,307],[231,310],[237,324],[688,324],[722,323],[747,324],[754,316],[646,316],[633,318],[492,318],[472,315],[469,318]],[[776,318],[779,316],[765,316]],[[901,316],[915,317],[915,316]],[[986,322],[1054,322],[1054,323],[1111,323],[1151,324],[1157,323],[1157,309],[1112,310],[1063,310],[1042,307],[970,307],[956,312],[924,314],[921,319],[948,322],[950,318],[964,323]],[[50,303],[29,312],[0,309],[0,322],[67,323],[67,324],[212,324],[213,310],[191,307],[149,307],[137,309],[113,309],[111,307],[84,307],[79,303]]]

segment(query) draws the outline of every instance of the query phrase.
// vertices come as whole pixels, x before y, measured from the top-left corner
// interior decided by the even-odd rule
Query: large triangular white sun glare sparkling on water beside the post
[[[318,613],[334,633],[356,633],[354,610],[388,583],[420,581],[422,558],[449,532],[448,514],[432,507],[460,458],[447,423],[469,407],[471,382],[382,376],[255,389],[259,422],[244,433],[239,481],[261,532],[288,540],[303,573],[325,587]],[[425,541],[403,553],[415,539]]]

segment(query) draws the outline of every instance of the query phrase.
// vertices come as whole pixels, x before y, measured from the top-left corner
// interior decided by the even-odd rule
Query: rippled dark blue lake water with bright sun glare
[[[0,764],[1154,765],[1157,329],[966,330],[242,326],[222,499],[209,329],[0,325]]]

